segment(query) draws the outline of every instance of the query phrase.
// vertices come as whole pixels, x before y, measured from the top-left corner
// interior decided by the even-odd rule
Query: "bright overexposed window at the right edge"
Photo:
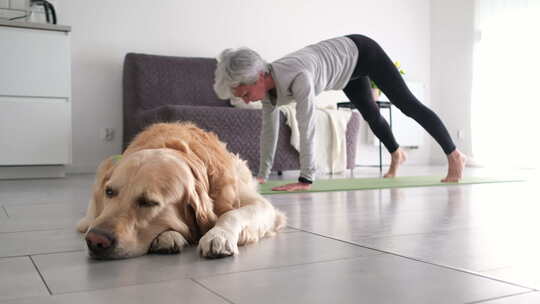
[[[540,0],[477,0],[475,15],[475,160],[538,168]]]

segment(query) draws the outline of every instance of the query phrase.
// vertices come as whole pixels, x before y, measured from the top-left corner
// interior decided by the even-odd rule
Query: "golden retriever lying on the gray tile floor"
[[[158,123],[100,164],[77,229],[97,259],[178,253],[196,243],[207,258],[235,255],[285,226],[257,187],[246,162],[215,134]]]

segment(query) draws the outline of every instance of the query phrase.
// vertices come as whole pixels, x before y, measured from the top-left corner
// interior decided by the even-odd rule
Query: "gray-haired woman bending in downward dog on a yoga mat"
[[[298,183],[273,190],[306,190],[315,177],[315,96],[325,90],[343,90],[360,111],[373,133],[391,154],[385,178],[394,177],[406,155],[390,130],[371,94],[370,79],[405,115],[416,120],[448,157],[448,173],[442,182],[462,177],[466,157],[454,145],[439,117],[410,92],[393,62],[372,39],[362,35],[333,38],[307,46],[272,63],[248,48],[226,49],[219,58],[214,90],[222,99],[233,96],[245,103],[261,100],[263,123],[261,159],[257,179],[270,174],[279,131],[278,107],[296,102],[300,132]]]

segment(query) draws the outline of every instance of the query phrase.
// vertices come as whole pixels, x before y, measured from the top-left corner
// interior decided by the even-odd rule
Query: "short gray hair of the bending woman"
[[[257,52],[248,48],[226,49],[218,56],[214,91],[219,98],[230,99],[232,88],[253,84],[261,72],[268,71],[268,63]]]

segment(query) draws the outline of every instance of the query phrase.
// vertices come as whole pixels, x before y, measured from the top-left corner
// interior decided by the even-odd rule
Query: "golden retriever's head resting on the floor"
[[[94,185],[96,219],[86,242],[90,256],[146,254],[164,231],[195,242],[215,222],[204,164],[182,143],[131,153],[102,165]]]

